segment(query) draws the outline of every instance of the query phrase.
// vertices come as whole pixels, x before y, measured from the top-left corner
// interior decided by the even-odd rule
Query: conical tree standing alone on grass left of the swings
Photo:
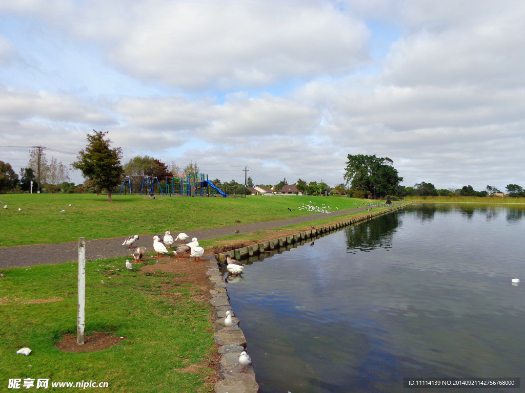
[[[122,149],[120,147],[111,149],[111,140],[104,139],[108,132],[93,130],[94,135],[88,134],[88,145],[86,150],[80,150],[77,161],[71,165],[80,169],[85,178],[97,190],[107,190],[109,202],[111,199],[111,188],[118,185],[124,169],[120,165]]]

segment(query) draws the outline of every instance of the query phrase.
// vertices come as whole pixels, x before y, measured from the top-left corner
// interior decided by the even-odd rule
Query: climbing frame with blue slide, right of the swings
[[[212,191],[210,191],[210,189]],[[208,180],[208,175],[204,173],[195,173],[193,176],[190,173],[175,174],[174,176],[166,177],[166,195],[186,195],[186,196],[216,196],[219,194],[226,198],[221,189]]]

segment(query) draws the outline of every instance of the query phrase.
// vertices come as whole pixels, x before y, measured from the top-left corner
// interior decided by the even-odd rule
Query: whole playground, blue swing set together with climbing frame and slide
[[[239,198],[242,196],[237,191],[234,191],[233,195],[229,195],[216,187],[208,180],[208,175],[205,173],[175,174],[166,177],[162,183],[153,176],[126,176],[122,182],[119,195],[126,194],[128,191],[130,194],[139,195],[144,192],[150,195],[162,194],[166,196],[222,196],[223,198],[228,196]]]

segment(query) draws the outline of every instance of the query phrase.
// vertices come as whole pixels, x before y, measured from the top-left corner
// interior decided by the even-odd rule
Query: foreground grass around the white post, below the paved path
[[[86,264],[86,333],[125,337],[98,352],[66,353],[55,347],[62,334],[76,335],[76,263],[2,269],[1,391],[10,378],[50,378],[54,392],[71,388],[51,388],[51,381],[81,380],[107,381],[111,392],[213,391],[205,378],[214,370],[203,361],[214,346],[211,309],[193,299],[199,289],[174,283],[173,274],[144,276],[139,264],[128,271],[124,260]],[[162,296],[166,293],[177,296]],[[49,298],[60,300],[35,302]],[[15,353],[25,346],[33,350],[29,356]]]

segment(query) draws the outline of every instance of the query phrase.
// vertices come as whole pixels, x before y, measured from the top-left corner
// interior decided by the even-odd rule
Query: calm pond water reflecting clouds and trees
[[[523,207],[412,205],[248,265],[227,289],[262,391],[525,390],[524,229]]]

